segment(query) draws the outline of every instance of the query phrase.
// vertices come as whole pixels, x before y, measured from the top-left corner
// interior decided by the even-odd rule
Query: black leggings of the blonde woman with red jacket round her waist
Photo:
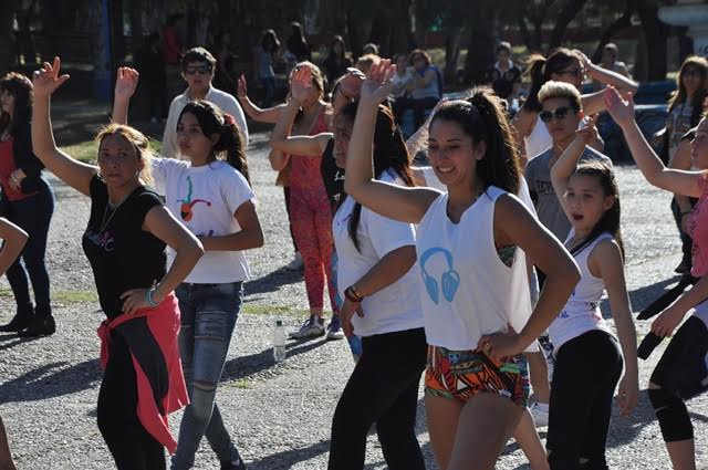
[[[98,429],[118,470],[165,469],[165,449],[136,415],[137,382],[128,345],[113,332],[98,391]]]

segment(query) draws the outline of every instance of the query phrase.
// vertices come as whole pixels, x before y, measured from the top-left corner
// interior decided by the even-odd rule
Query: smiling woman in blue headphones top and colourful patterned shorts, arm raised
[[[490,469],[525,409],[521,353],[561,310],[579,272],[513,196],[516,147],[500,101],[486,91],[441,106],[430,123],[430,163],[447,194],[373,178],[377,107],[394,72],[382,61],[362,86],[344,187],[363,207],[418,224],[430,441],[442,469]],[[550,273],[533,312],[519,249]]]

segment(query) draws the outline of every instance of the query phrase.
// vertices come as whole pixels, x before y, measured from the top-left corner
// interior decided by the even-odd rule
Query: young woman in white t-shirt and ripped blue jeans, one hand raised
[[[118,76],[114,121],[124,121],[134,86]],[[118,93],[118,90],[125,93]],[[204,246],[205,254],[175,293],[181,312],[179,348],[190,404],[179,427],[171,468],[189,469],[204,436],[222,469],[244,469],[223,425],[216,391],[250,278],[244,251],[263,244],[243,138],[232,116],[206,101],[188,103],[177,123],[188,160],[154,158],[155,187],[165,205]],[[168,252],[168,260],[171,260]]]

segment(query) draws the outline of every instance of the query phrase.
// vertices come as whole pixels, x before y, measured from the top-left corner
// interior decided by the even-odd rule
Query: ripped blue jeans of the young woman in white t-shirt
[[[171,469],[194,466],[204,436],[220,461],[235,461],[240,457],[223,426],[216,394],[241,310],[242,283],[183,283],[175,294],[181,314],[179,352],[190,404],[181,418]]]

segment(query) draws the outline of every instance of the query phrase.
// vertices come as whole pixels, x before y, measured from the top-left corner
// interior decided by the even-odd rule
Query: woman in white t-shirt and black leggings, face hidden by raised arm
[[[346,163],[357,105],[337,115],[334,157]],[[374,132],[376,178],[413,186],[409,158],[391,111],[379,106]],[[416,438],[426,340],[413,224],[382,217],[346,195],[332,222],[337,253],[341,317],[347,335],[362,337],[363,354],[334,411],[330,468],[363,468],[366,435],[375,422],[392,469],[425,469]]]

